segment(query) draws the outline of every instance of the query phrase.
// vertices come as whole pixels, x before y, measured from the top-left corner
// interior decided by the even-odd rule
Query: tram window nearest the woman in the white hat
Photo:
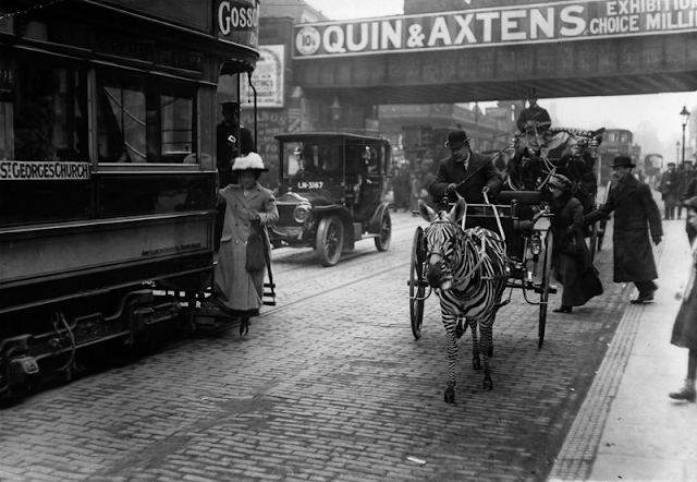
[[[98,92],[100,162],[191,161],[195,89],[110,79]]]

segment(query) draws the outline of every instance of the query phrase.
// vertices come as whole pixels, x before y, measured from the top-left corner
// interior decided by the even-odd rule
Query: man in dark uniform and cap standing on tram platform
[[[221,108],[223,119],[216,126],[216,140],[220,188],[224,188],[237,182],[231,169],[232,160],[254,150],[254,137],[252,131],[240,125],[240,103],[228,100]]]

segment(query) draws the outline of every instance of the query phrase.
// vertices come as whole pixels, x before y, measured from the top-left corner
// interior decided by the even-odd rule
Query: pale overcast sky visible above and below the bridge
[[[293,1],[293,0],[289,0]],[[348,20],[370,16],[401,15],[403,0],[305,0],[330,19]],[[424,0],[427,1],[427,0]],[[463,0],[464,3],[464,0]],[[538,93],[543,97],[543,89]],[[695,110],[697,118],[697,94],[694,92],[675,94],[652,94],[621,97],[585,97],[539,100],[547,108],[557,126],[578,129],[628,129],[635,132],[644,154],[661,153],[675,160],[676,142],[682,142],[683,105]],[[492,104],[482,104],[482,107]],[[697,121],[697,119],[695,119]],[[655,135],[636,133],[652,133]],[[694,144],[695,141],[692,142]],[[690,145],[689,135],[686,144]]]

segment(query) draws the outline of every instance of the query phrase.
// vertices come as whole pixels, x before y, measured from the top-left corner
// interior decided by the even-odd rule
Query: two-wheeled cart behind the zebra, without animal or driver
[[[539,306],[538,348],[542,348],[549,296],[557,292],[557,287],[551,284],[553,234],[547,229],[549,222],[538,221],[552,214],[542,206],[539,191],[503,191],[497,201],[498,204],[469,204],[479,214],[467,215],[465,229],[480,226],[499,233],[505,242],[508,301],[515,288],[522,290],[527,303]],[[416,339],[421,336],[425,301],[432,292],[426,280],[427,252],[425,231],[417,227],[408,279],[412,333]],[[539,301],[534,296],[539,296]]]

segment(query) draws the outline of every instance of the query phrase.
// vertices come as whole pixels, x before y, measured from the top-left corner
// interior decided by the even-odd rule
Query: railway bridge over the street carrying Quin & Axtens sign
[[[527,86],[548,98],[697,88],[697,0],[438,5],[294,25],[294,83],[375,105],[519,100]]]

